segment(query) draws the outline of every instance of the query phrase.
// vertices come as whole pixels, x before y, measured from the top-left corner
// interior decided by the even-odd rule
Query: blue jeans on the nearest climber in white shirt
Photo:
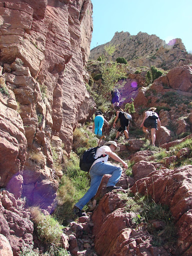
[[[104,174],[111,174],[111,177],[108,179],[106,186],[114,186],[122,173],[122,168],[120,166],[112,165],[107,162],[96,162],[90,169],[90,187],[87,192],[79,199],[75,204],[80,210],[84,205],[96,194],[98,187],[100,185],[102,176]]]

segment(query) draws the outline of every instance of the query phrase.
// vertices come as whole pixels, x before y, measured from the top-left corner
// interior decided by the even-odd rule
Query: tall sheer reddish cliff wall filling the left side
[[[53,152],[70,152],[77,121],[92,101],[84,65],[90,0],[0,2],[1,187],[51,210],[59,175]]]

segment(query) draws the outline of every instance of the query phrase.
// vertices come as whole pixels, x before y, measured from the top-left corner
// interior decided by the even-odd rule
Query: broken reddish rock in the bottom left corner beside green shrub
[[[17,256],[21,247],[32,245],[33,223],[30,221],[30,212],[23,207],[24,200],[15,199],[7,190],[0,191],[0,235],[1,242],[6,241],[6,246],[0,246],[0,255]],[[8,246],[9,244],[9,246]],[[2,248],[6,247],[6,252]],[[9,253],[9,254],[8,254]]]

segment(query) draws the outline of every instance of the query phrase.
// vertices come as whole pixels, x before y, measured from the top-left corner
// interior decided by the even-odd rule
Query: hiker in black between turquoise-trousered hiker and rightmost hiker
[[[123,130],[123,132],[124,132],[124,135],[126,137],[125,139],[128,140],[129,139],[129,135],[128,135],[129,120],[125,117],[124,111],[121,108],[116,110],[115,115],[116,115],[116,117],[114,119],[112,126],[113,126],[113,128],[115,127],[116,120],[119,118],[120,119],[120,128],[118,128],[118,130],[116,132],[114,141],[118,140],[121,130]]]

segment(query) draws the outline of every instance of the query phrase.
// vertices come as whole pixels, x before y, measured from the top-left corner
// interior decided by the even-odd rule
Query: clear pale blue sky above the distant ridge
[[[108,42],[116,31],[156,34],[166,43],[180,38],[192,51],[192,0],[91,0],[90,49]]]

